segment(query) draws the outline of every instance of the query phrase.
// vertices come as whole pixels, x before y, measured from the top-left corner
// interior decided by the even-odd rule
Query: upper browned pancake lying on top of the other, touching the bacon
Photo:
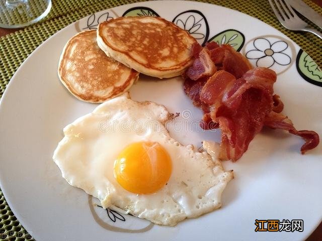
[[[99,25],[98,46],[115,60],[140,73],[170,78],[192,65],[196,40],[159,17],[121,17]]]

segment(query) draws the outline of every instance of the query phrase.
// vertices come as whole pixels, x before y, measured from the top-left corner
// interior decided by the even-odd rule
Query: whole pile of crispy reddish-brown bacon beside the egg
[[[273,95],[276,73],[251,66],[229,45],[193,46],[196,63],[184,75],[184,89],[194,104],[203,109],[202,127],[220,128],[220,159],[238,160],[264,126],[283,129],[302,137],[301,153],[319,143],[313,131],[297,131],[290,119],[280,114],[283,103]],[[212,71],[209,71],[209,66]]]

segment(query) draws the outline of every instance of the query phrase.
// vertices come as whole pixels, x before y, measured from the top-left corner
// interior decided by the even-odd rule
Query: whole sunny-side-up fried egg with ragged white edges
[[[176,225],[220,207],[233,175],[213,155],[212,143],[204,142],[209,155],[171,138],[169,118],[163,105],[123,94],[66,126],[53,160],[70,185],[104,208]]]

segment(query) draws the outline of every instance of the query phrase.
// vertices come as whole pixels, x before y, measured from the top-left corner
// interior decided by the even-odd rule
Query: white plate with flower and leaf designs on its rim
[[[125,221],[120,217],[113,222],[105,210],[89,205],[96,200],[89,202],[85,192],[69,186],[61,177],[52,153],[62,138],[62,128],[97,106],[77,100],[58,80],[57,64],[63,46],[80,29],[95,28],[97,21],[122,16],[128,9],[139,6],[150,8],[170,21],[179,15],[176,23],[187,29],[194,26],[191,32],[197,29],[193,34],[200,42],[225,30],[237,30],[215,39],[227,42],[237,33],[230,43],[235,40],[234,46],[242,47],[240,51],[245,54],[255,49],[256,39],[255,46],[263,50],[267,41],[271,44],[281,41],[272,48],[281,50],[282,54],[272,57],[284,65],[268,57],[263,61],[264,54],[260,52],[252,52],[249,57],[263,57],[257,62],[259,65],[274,63],[271,68],[280,73],[274,88],[285,103],[283,113],[292,119],[295,127],[322,134],[322,89],[307,82],[309,73],[313,73],[306,65],[309,57],[274,28],[230,9],[194,2],[146,2],[106,10],[69,25],[39,46],[16,72],[1,99],[0,181],[19,221],[36,240],[301,240],[307,237],[321,221],[321,148],[300,155],[300,138],[280,130],[264,130],[240,160],[223,163],[226,169],[234,170],[235,179],[224,190],[222,208],[175,227],[150,225],[128,215],[124,216]],[[180,15],[185,11],[190,12]],[[287,48],[283,50],[283,46]],[[311,75],[311,82],[319,84],[314,80],[315,75]],[[182,121],[198,120],[202,116],[184,94],[180,78],[141,79],[130,93],[134,100],[162,103],[172,112],[190,110],[186,111],[186,119],[181,117]],[[171,135],[183,144],[192,143],[196,147],[205,139],[220,140],[218,132],[171,130]],[[113,219],[112,213],[109,214]],[[303,219],[304,230],[255,232],[255,219]],[[110,226],[147,228],[125,232],[108,230]]]

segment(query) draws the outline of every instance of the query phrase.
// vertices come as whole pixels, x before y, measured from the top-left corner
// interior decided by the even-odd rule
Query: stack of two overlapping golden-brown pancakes
[[[196,40],[159,17],[121,17],[73,36],[58,76],[78,99],[100,103],[126,92],[139,73],[170,78],[192,65]]]

